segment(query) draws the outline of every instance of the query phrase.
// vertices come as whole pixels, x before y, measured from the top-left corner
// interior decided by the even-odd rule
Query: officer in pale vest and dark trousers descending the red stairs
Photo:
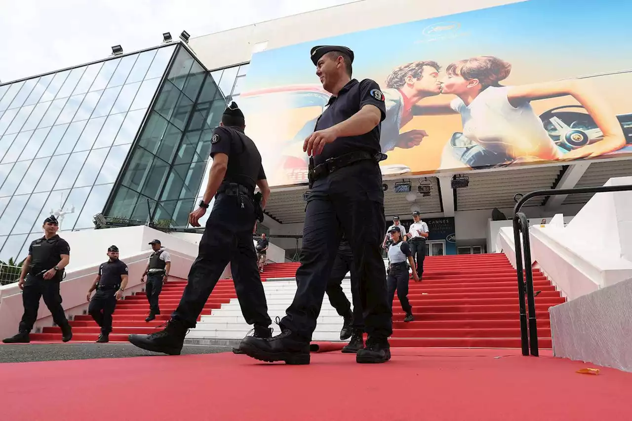
[[[415,320],[413,316],[413,307],[408,302],[408,265],[406,260],[410,263],[410,267],[413,268],[413,279],[415,282],[419,281],[417,272],[415,271],[415,260],[413,260],[413,253],[410,251],[410,246],[406,241],[402,241],[401,231],[398,227],[392,227],[389,229],[391,235],[392,244],[389,247],[389,276],[386,279],[386,284],[389,288],[389,303],[393,302],[395,296],[395,290],[397,290],[397,296],[402,310],[406,313],[404,322],[412,322]]]

